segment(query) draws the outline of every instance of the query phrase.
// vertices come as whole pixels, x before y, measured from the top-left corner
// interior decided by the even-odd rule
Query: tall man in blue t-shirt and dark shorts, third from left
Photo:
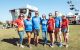
[[[41,21],[41,18],[39,17],[38,11],[36,11],[35,16],[32,17],[35,46],[37,46],[39,42],[38,39],[39,39],[39,31],[40,31],[40,21]]]

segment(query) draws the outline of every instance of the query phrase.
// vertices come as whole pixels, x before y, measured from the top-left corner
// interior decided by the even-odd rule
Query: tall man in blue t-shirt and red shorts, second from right
[[[62,47],[62,36],[61,36],[61,24],[62,24],[62,18],[59,16],[59,12],[55,11],[55,39],[57,42],[57,36],[59,35],[59,47]]]

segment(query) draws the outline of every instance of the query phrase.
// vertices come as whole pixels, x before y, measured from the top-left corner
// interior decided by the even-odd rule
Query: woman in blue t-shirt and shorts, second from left
[[[28,47],[31,48],[31,34],[32,34],[32,20],[31,17],[28,16],[27,19],[24,20],[25,31],[28,37]]]

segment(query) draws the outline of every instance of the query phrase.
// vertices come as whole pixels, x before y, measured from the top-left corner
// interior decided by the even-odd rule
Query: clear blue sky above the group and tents
[[[27,4],[39,8],[40,16],[45,13],[48,16],[49,12],[60,11],[64,14],[68,13],[68,0],[0,0],[0,21],[11,20],[12,16],[10,9],[25,7]],[[75,6],[79,9],[80,0],[73,0]]]

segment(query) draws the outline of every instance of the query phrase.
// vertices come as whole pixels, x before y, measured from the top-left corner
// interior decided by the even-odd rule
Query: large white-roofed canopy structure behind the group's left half
[[[31,12],[38,11],[38,8],[35,6],[27,5],[26,7],[12,9],[9,11],[12,15],[12,20],[15,20],[16,18],[18,18],[20,13],[23,13],[24,15],[28,16],[28,15],[31,15]],[[26,16],[25,16],[25,18],[26,18]]]

